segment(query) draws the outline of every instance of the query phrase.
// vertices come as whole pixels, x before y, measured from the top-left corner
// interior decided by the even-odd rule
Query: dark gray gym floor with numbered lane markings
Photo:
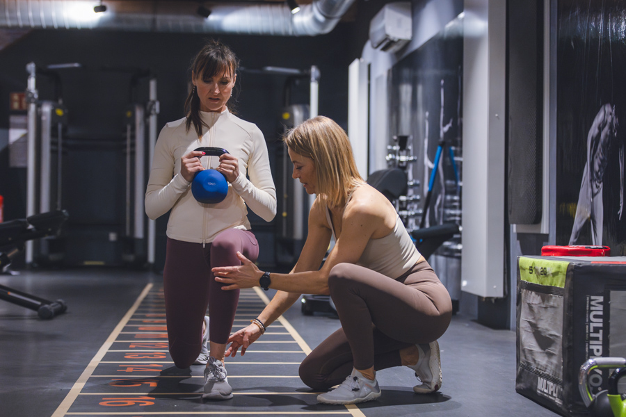
[[[167,349],[161,277],[108,269],[21,271],[0,284],[67,311],[51,320],[0,300],[0,413],[3,416],[184,416],[316,414],[387,416],[557,416],[515,392],[515,332],[461,314],[440,339],[443,386],[413,393],[408,368],[378,373],[383,395],[354,406],[316,404],[298,363],[339,327],[329,315],[293,306],[244,357],[227,360],[234,398],[202,402],[202,368],[179,370]],[[256,316],[266,295],[242,291],[234,329]]]

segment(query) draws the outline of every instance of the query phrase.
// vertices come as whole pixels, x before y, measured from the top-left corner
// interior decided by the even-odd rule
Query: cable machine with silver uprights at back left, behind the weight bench
[[[67,222],[58,234],[42,238],[33,245],[33,241],[26,242],[26,264],[107,264],[120,263],[122,265],[148,265],[154,264],[154,240],[156,227],[154,221],[147,220],[144,209],[145,182],[148,164],[152,161],[154,145],[157,141],[157,115],[159,113],[159,101],[157,101],[157,79],[148,70],[101,68],[99,70],[115,72],[131,72],[131,84],[129,90],[129,107],[125,111],[125,131],[122,140],[84,140],[72,138],[68,135],[68,111],[63,104],[61,89],[61,76],[59,70],[68,68],[82,68],[78,63],[48,65],[38,67],[35,63],[26,65],[29,74],[26,100],[28,108],[28,167],[27,167],[27,195],[26,215],[36,215],[53,210],[61,210],[70,204],[71,189],[63,185],[63,167],[72,158],[68,154],[72,152],[122,152],[125,158],[125,213],[123,225],[118,230],[114,223],[95,224],[99,220],[93,215],[93,227],[99,229],[110,228],[109,242],[106,247],[92,250],[107,255],[106,261],[91,261],[85,259],[81,263],[80,255],[73,251],[72,259],[67,259],[67,251],[70,250],[69,241],[81,248],[97,244],[95,234],[90,234],[87,224],[74,224],[72,220]],[[40,100],[36,88],[38,77],[54,81],[55,100]],[[138,104],[134,99],[134,93],[140,79],[148,77],[149,100],[147,104]],[[146,129],[147,125],[147,129]],[[147,142],[146,142],[147,133]],[[100,149],[102,147],[102,149]],[[101,153],[102,154],[102,153]],[[82,155],[82,154],[81,154]],[[64,161],[67,160],[67,161]],[[114,169],[114,167],[111,167]],[[67,177],[65,177],[67,178]],[[114,179],[115,175],[111,175]],[[89,179],[77,179],[77,181],[89,181]],[[116,186],[114,181],[113,187]],[[97,187],[94,190],[98,193]],[[81,199],[85,196],[72,196]],[[75,200],[72,200],[75,202]],[[70,219],[71,217],[70,213]],[[84,213],[83,213],[84,216]],[[147,227],[146,227],[147,226]],[[146,233],[147,229],[147,233]],[[102,231],[102,230],[100,230]],[[84,236],[79,237],[82,233]],[[118,239],[118,234],[121,238]],[[80,239],[87,239],[85,245],[81,245]],[[119,243],[118,243],[119,240]],[[109,244],[110,243],[110,244]],[[113,248],[113,249],[111,249]],[[102,250],[101,250],[102,249]],[[111,259],[115,259],[111,261]]]

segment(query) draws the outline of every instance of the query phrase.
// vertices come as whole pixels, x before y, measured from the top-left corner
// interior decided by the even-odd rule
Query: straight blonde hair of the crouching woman
[[[354,188],[365,182],[356,167],[346,132],[332,119],[309,119],[285,133],[283,140],[291,151],[312,158],[318,197],[328,206],[346,204]]]

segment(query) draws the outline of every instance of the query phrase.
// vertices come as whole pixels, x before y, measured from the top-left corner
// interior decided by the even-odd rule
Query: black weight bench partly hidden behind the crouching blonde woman
[[[390,202],[398,199],[401,195],[406,195],[408,188],[408,178],[406,172],[400,168],[389,168],[372,172],[367,179],[367,183],[380,191]],[[419,253],[428,259],[435,250],[458,234],[459,227],[456,223],[444,223],[436,226],[424,227],[411,231],[410,234],[415,239],[415,247]],[[302,297],[301,311],[305,316],[312,315],[315,311],[320,313],[335,313],[335,305],[332,304],[329,295],[307,294]]]

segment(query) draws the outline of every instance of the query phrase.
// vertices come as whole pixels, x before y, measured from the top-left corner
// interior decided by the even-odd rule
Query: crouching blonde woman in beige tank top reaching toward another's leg
[[[261,286],[278,293],[251,325],[233,334],[234,356],[263,334],[300,294],[330,294],[342,328],[300,365],[300,378],[327,404],[354,404],[380,396],[376,370],[408,366],[416,393],[441,387],[437,339],[452,317],[448,291],[420,255],[394,206],[365,183],[344,130],[328,117],[300,124],[284,138],[292,177],[316,194],[306,243],[289,274],[262,272],[245,254],[241,266],[214,268],[223,290]],[[335,247],[320,268],[331,236]],[[228,292],[228,291],[224,291]]]

